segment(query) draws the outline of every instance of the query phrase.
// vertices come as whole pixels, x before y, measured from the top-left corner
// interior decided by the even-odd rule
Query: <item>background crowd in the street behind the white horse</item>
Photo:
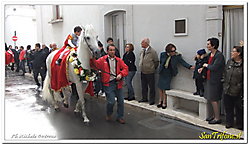
[[[48,48],[46,45],[42,45],[40,43],[36,43],[34,49],[31,49],[31,45],[27,45],[26,49],[23,46],[15,46],[12,48],[12,45],[6,48],[6,51],[11,51],[13,54],[14,60],[9,64],[12,71],[22,72],[20,76],[24,76],[26,72],[26,68],[28,68],[28,73],[33,72],[33,77],[36,82],[37,88],[39,89],[43,86],[43,81],[46,76],[46,58],[47,56],[54,50],[58,50],[57,45],[55,43],[50,45]],[[27,67],[26,67],[27,66]],[[39,82],[38,76],[41,76],[42,81]]]

